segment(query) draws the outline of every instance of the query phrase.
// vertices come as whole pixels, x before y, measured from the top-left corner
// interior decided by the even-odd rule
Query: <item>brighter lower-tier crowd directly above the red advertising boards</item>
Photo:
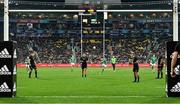
[[[80,62],[81,43],[71,42],[70,39],[57,38],[16,38],[18,44],[18,63],[24,63],[28,56],[29,49],[35,50],[42,63],[63,63],[70,62],[75,49],[77,62]],[[168,40],[165,39],[119,39],[106,43],[105,57],[110,63],[112,55],[117,58],[118,63],[132,63],[132,58],[137,56],[140,63],[148,63],[152,55],[165,55],[165,46]],[[98,42],[84,41],[82,51],[88,56],[89,63],[101,63],[103,57],[102,40]]]

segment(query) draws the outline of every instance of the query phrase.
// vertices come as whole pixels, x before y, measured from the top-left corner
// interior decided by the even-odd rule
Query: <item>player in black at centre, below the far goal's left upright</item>
[[[87,74],[87,60],[88,58],[86,57],[85,54],[81,57],[81,69],[82,69],[82,77],[86,77]]]

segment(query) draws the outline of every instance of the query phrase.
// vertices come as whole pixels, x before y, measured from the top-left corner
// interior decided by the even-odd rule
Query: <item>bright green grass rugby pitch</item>
[[[167,98],[165,78],[155,79],[150,69],[140,69],[140,83],[133,83],[131,68],[111,69],[101,74],[100,68],[89,68],[87,78],[79,68],[40,68],[39,79],[28,78],[18,69],[17,96],[0,98],[0,103],[180,103]]]

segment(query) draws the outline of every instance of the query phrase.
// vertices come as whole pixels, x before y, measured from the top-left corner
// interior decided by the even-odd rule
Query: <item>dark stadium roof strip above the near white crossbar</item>
[[[83,4],[77,2],[78,0],[9,1],[10,9],[80,9],[80,6],[82,6]],[[76,3],[73,3],[73,1],[76,1]],[[83,0],[80,1],[82,2]],[[98,1],[100,2],[98,3]],[[120,0],[94,0],[94,2],[92,2],[92,5],[94,5],[95,7],[99,6],[99,9],[104,9],[104,5],[107,5],[107,9],[171,9],[172,0],[122,0],[122,2]]]

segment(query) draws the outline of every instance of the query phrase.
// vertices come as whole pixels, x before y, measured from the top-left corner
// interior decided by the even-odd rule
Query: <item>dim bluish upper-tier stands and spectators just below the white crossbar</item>
[[[16,36],[71,38],[79,37],[81,34],[81,19],[78,13],[17,13],[11,14],[11,17],[10,27],[16,28],[10,31]],[[97,15],[93,18],[100,17]],[[172,33],[172,14],[108,13],[105,25],[106,35],[110,36],[137,37],[144,34],[152,35],[152,32],[163,32],[164,35]]]

